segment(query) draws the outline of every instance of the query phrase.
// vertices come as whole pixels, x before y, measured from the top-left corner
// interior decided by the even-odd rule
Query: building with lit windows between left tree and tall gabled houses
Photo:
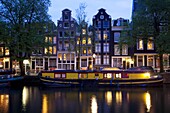
[[[44,25],[44,41],[48,43],[45,48],[35,47],[31,59],[25,61],[25,65],[30,68],[31,73],[37,73],[41,70],[51,70],[57,67],[57,27],[54,22],[48,22]],[[25,67],[25,68],[28,68]]]

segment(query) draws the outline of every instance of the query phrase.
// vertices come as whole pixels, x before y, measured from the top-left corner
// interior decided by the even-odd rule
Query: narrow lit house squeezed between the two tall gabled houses
[[[80,24],[80,33],[77,33],[77,69],[92,70],[93,69],[93,33],[89,31],[88,24],[82,21]]]

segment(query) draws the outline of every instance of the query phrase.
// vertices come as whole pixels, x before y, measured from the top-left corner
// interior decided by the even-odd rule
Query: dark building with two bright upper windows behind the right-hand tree
[[[135,16],[135,13],[142,7],[144,7],[142,2],[139,2],[139,0],[133,0],[132,16]],[[163,26],[160,26],[160,30],[162,27]],[[155,38],[156,37],[151,34],[148,34],[146,40],[144,40],[142,36],[137,37],[137,43],[134,47],[134,66],[152,66],[156,71],[159,71],[160,59],[154,43]],[[165,71],[169,70],[169,54],[163,54],[163,66]]]

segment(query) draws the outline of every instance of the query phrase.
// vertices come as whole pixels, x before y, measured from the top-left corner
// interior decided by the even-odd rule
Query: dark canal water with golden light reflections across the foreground
[[[170,113],[170,86],[0,88],[0,113]]]

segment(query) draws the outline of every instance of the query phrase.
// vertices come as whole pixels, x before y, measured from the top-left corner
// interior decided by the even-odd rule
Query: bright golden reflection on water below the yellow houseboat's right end
[[[152,105],[151,105],[151,95],[149,92],[146,92],[144,94],[144,99],[145,99],[145,105],[146,105],[147,112],[150,112]]]

